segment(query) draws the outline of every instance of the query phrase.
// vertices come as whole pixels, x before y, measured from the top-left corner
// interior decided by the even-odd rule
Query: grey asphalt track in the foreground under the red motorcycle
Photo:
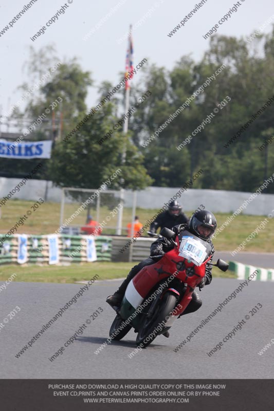
[[[0,294],[1,320],[19,306],[18,312],[0,330],[0,378],[274,378],[274,345],[262,356],[258,352],[274,338],[274,282],[250,282],[236,294],[179,352],[174,348],[223,302],[240,284],[236,279],[214,278],[200,295],[203,306],[177,320],[170,338],[160,335],[132,359],[135,348],[133,330],[120,342],[95,350],[105,342],[115,312],[105,303],[119,281],[99,281],[89,287],[20,358],[24,347],[83,284],[11,283]],[[253,316],[249,311],[258,303],[262,308]],[[103,312],[84,329],[83,334],[53,362],[60,346],[90,319],[98,307]],[[239,321],[250,319],[235,337],[224,343],[212,357],[207,355]],[[90,319],[92,320],[92,319]]]

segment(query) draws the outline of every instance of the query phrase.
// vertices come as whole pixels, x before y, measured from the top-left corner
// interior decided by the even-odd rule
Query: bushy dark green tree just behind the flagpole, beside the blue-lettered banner
[[[111,188],[143,189],[151,184],[137,148],[120,130],[102,144],[98,141],[113,129],[117,122],[112,103],[105,104],[88,119],[79,132],[68,141],[58,141],[50,161],[51,179],[61,186],[98,188],[117,169],[119,177],[111,181]],[[78,121],[82,118],[78,118]],[[121,155],[126,145],[126,160],[121,164]]]

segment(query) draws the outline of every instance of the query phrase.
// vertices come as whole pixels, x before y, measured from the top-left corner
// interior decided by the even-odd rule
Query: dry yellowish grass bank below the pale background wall
[[[22,217],[26,214],[27,210],[31,210],[31,205],[34,201],[22,201],[22,200],[9,200],[8,203],[1,208],[2,217],[0,219],[0,232],[7,233]],[[198,204],[199,206],[199,204]],[[197,207],[198,207],[197,206]],[[206,204],[205,204],[206,206]],[[73,214],[79,204],[70,204],[66,209],[64,218],[68,218]],[[90,210],[93,213],[94,210]],[[159,210],[148,210],[137,208],[136,214],[139,216],[140,221],[145,222],[152,218]],[[102,222],[106,215],[110,211],[106,207],[102,207],[100,221]],[[84,225],[86,219],[87,210],[84,210],[77,216],[72,222],[72,225]],[[186,212],[188,216],[191,212]],[[231,216],[231,213],[215,213],[218,227],[226,221],[227,217]],[[95,214],[96,215],[96,214]],[[116,216],[117,217],[117,216]],[[217,235],[214,239],[215,250],[218,251],[233,251],[244,241],[253,230],[264,220],[265,216],[255,215],[239,215],[227,226],[225,229]],[[39,209],[29,216],[24,222],[23,226],[17,229],[17,234],[51,234],[59,228],[60,220],[60,204],[53,202],[45,202]],[[123,215],[123,227],[131,220],[131,210],[125,208]],[[109,222],[112,226],[116,227],[116,219],[112,218]],[[103,234],[114,234],[115,230],[103,229]],[[124,232],[125,233],[125,232]],[[247,245],[243,251],[254,252],[272,252],[274,242],[274,218],[269,219],[267,225],[263,230],[259,230],[258,235],[252,238],[251,241],[247,241]]]

